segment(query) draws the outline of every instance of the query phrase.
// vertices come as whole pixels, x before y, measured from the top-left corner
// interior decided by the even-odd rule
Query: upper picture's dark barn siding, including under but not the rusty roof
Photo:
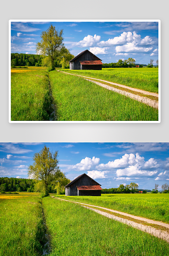
[[[73,69],[73,70],[80,69],[80,61],[85,61],[85,60],[100,60],[100,59],[97,56],[93,55],[91,52],[86,51],[86,52],[82,53],[74,61],[70,62],[70,70],[71,69]],[[86,66],[95,66],[95,65],[86,65]],[[97,66],[99,66],[99,67],[97,67]],[[96,65],[96,67],[93,67],[91,69],[100,70],[100,66],[102,69],[102,65]]]

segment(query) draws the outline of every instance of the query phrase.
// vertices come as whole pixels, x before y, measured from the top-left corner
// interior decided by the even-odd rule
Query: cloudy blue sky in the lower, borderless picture
[[[135,182],[142,189],[169,184],[169,143],[0,143],[0,177],[27,178],[27,166],[46,145],[73,180],[86,173],[102,188]]]

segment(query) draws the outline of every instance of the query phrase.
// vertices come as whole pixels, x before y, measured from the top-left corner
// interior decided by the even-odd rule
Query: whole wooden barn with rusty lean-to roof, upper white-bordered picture
[[[89,50],[79,53],[76,57],[69,61],[70,70],[102,70],[102,62],[96,55]]]

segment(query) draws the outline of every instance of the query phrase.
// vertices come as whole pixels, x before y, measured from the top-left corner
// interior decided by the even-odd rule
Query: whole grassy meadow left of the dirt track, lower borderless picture
[[[0,194],[0,213],[0,256],[169,253],[167,242],[146,232],[71,202],[41,199],[36,193]]]

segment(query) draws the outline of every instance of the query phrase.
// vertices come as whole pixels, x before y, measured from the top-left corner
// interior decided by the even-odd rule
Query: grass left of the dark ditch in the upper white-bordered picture
[[[11,70],[11,120],[49,120],[51,99],[44,68]]]

